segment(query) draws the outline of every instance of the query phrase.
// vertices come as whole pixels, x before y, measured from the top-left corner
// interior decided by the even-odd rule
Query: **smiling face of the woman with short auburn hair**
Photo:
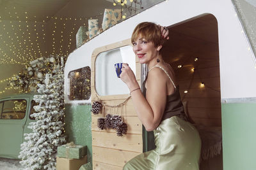
[[[139,58],[141,64],[148,64],[152,59],[157,57],[157,47],[152,41],[148,42],[145,38],[139,36],[136,41],[132,42],[133,52]]]

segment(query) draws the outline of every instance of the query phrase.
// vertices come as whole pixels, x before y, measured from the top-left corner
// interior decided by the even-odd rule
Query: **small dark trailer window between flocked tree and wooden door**
[[[88,100],[91,97],[91,69],[89,66],[76,69],[68,73],[68,98],[74,100]]]

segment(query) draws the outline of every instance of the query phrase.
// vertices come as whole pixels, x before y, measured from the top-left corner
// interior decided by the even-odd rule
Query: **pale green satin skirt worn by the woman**
[[[154,150],[129,160],[124,170],[198,170],[201,139],[196,128],[179,117],[163,120],[154,130]]]

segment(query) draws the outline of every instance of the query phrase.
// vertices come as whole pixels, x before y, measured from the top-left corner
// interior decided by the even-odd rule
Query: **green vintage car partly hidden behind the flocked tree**
[[[24,134],[33,122],[33,96],[35,94],[15,94],[0,99],[0,157],[18,159],[20,144]]]

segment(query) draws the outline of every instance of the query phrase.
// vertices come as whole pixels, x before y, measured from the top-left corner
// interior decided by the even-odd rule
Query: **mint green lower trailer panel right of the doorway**
[[[256,104],[221,104],[223,169],[256,169]]]

